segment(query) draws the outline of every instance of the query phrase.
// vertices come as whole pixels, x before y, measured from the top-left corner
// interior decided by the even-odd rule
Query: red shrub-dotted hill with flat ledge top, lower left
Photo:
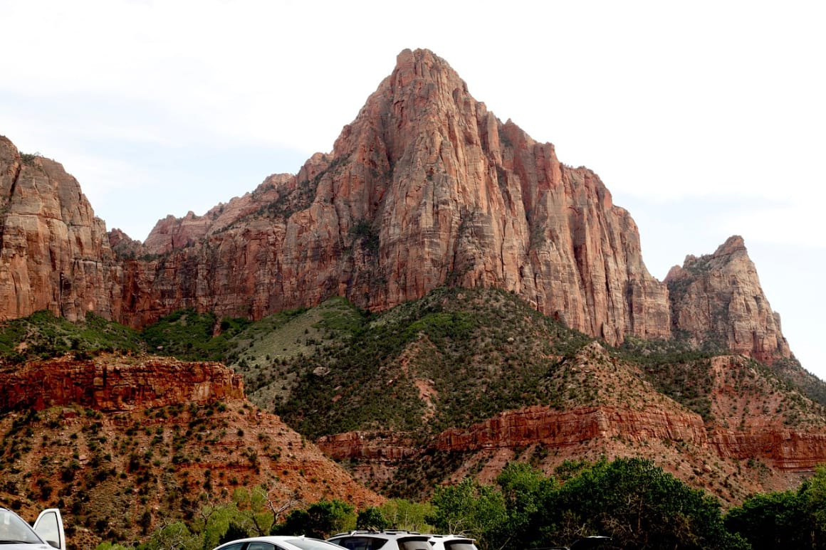
[[[102,355],[0,367],[0,433],[3,493],[40,502],[47,481],[77,526],[67,535],[78,550],[112,538],[84,529],[78,510],[90,526],[138,541],[239,491],[265,495],[273,515],[318,500],[357,510],[384,500],[252,406],[240,376],[216,363]],[[137,515],[149,529],[134,510],[145,510]]]

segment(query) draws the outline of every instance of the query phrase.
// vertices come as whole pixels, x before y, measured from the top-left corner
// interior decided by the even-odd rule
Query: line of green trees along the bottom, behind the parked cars
[[[349,529],[464,533],[480,550],[566,547],[592,535],[610,537],[605,550],[818,550],[826,549],[826,466],[796,490],[752,495],[728,511],[642,458],[569,462],[555,476],[513,462],[492,485],[468,477],[437,487],[425,503],[387,500],[356,513],[343,501],[322,500],[287,509],[262,487],[240,489],[230,503],[204,505],[190,524],[164,525],[144,543],[103,543],[97,550],[209,550],[247,536],[327,538]]]

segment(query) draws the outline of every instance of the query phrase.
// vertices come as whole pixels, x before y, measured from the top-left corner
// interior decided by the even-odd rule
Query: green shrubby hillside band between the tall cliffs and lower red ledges
[[[223,361],[244,374],[252,401],[308,437],[358,429],[426,438],[503,410],[589,402],[605,388],[574,384],[566,372],[591,341],[510,293],[441,288],[380,314],[335,297],[256,322],[176,311],[140,332],[93,314],[73,324],[41,311],[0,326],[0,357],[118,351]],[[724,350],[629,338],[610,353],[637,364],[656,391],[714,419],[710,358]],[[760,370],[826,402],[826,384],[799,363]]]

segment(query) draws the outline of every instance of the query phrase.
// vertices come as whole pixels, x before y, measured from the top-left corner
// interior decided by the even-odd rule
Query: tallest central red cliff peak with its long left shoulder
[[[615,344],[666,338],[667,291],[595,173],[503,124],[427,50],[396,69],[330,156],[207,216],[159,222],[127,266],[130,317],[183,305],[260,317],[343,294],[382,310],[445,283],[517,292]]]

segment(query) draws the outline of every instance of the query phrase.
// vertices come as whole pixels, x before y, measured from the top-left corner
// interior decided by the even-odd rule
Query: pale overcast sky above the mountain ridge
[[[600,174],[662,280],[743,235],[826,378],[824,2],[0,0],[0,135],[143,240],[328,152],[405,48]]]

